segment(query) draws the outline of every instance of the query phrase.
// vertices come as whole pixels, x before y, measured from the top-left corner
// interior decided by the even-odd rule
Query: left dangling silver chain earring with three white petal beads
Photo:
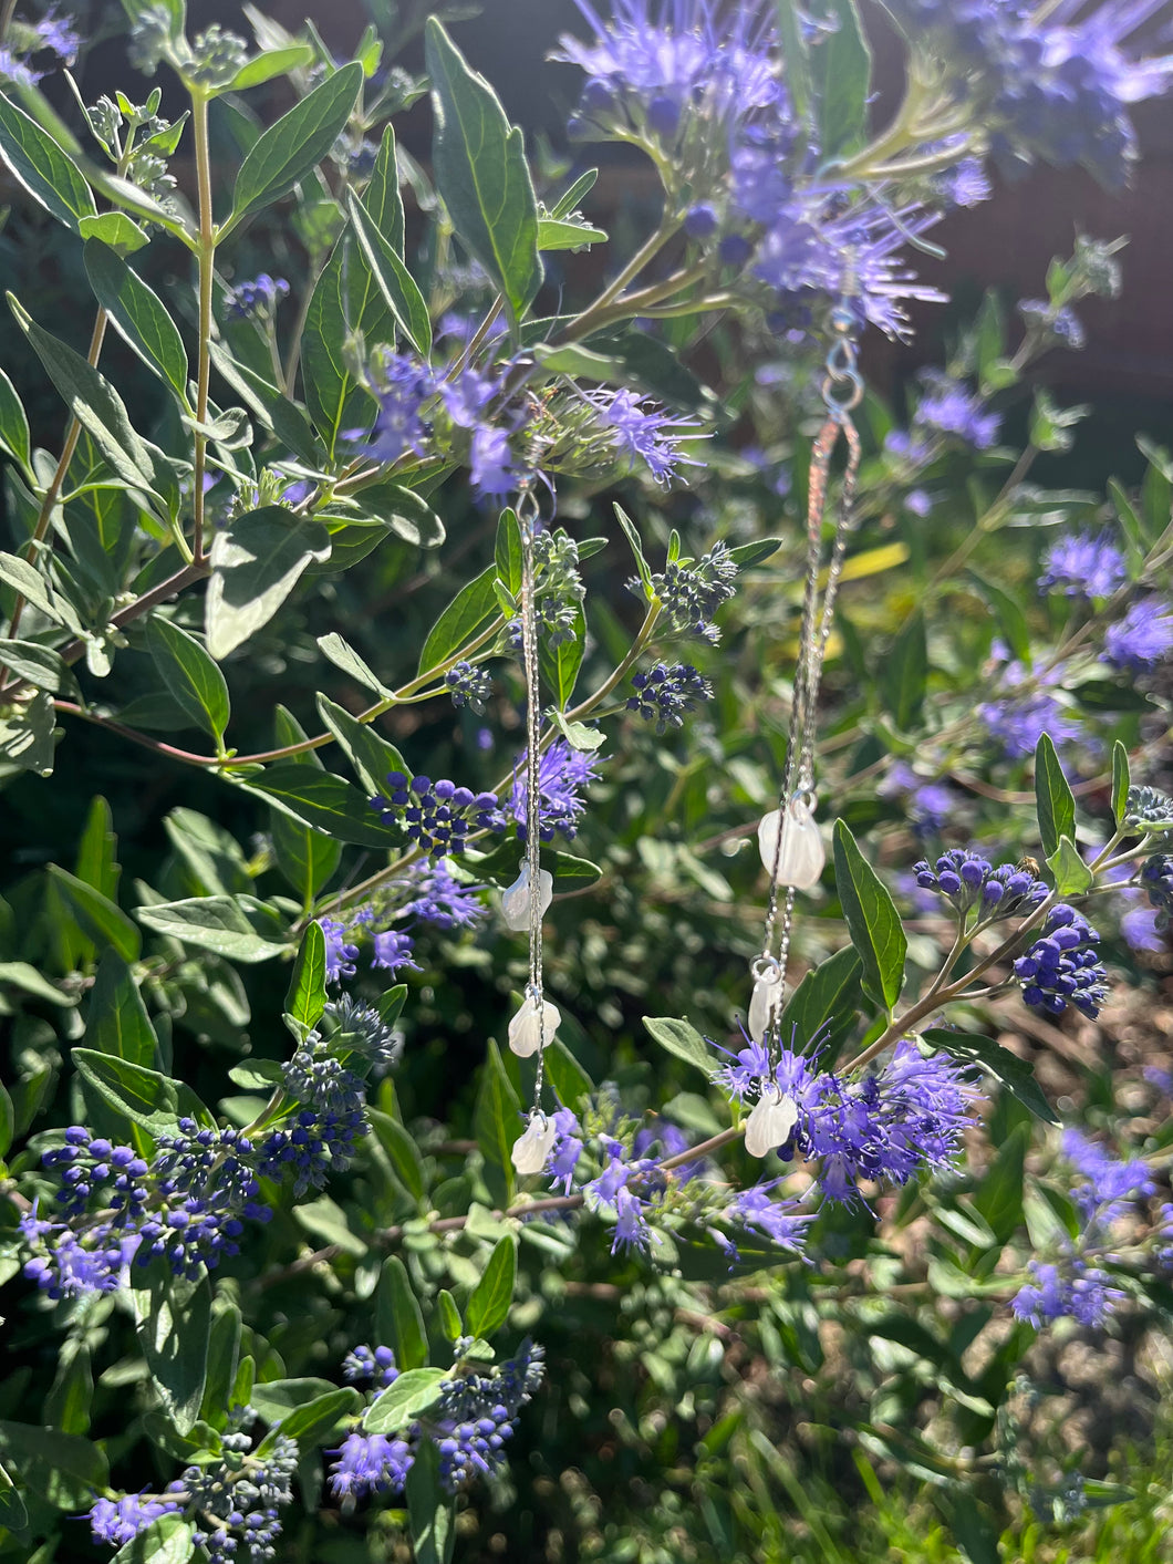
[[[540,1173],[554,1145],[555,1129],[541,1110],[541,1089],[546,1073],[546,1043],[561,1020],[558,1007],[543,992],[541,921],[551,902],[552,877],[541,868],[541,693],[538,687],[538,612],[535,604],[533,538],[536,535],[538,502],[526,488],[518,502],[521,529],[521,654],[526,674],[526,863],[519,881],[502,898],[511,927],[526,927],[530,937],[530,976],[526,999],[510,1021],[508,1042],[522,1059],[536,1054],[533,1106],[522,1135],[513,1146],[518,1173]],[[515,921],[516,920],[516,921]]]

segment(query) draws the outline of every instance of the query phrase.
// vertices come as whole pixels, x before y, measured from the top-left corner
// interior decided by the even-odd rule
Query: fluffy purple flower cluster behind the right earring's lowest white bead
[[[924,1168],[945,1167],[973,1120],[978,1095],[951,1059],[924,1056],[909,1040],[882,1070],[857,1082],[816,1073],[815,1060],[793,1049],[782,1049],[771,1068],[762,1043],[740,1049],[715,1079],[738,1101],[788,1099],[796,1112],[779,1154],[818,1160],[823,1193],[846,1204],[860,1198],[859,1179],[906,1184]]]

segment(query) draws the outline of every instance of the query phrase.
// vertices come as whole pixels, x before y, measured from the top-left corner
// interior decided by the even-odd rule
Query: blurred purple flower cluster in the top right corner
[[[1106,0],[1081,16],[1084,0],[1060,0],[1043,22],[1021,0],[890,0],[890,9],[948,69],[1001,163],[1078,163],[1121,185],[1137,155],[1128,108],[1164,92],[1173,75],[1170,56],[1125,52],[1160,3]]]

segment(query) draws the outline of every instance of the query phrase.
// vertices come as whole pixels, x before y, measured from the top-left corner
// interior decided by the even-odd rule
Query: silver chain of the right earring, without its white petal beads
[[[823,378],[823,402],[827,418],[815,436],[810,457],[810,483],[807,500],[807,577],[802,591],[802,627],[799,632],[799,652],[795,668],[795,694],[790,707],[790,729],[787,735],[787,763],[779,791],[779,830],[774,843],[774,860],[769,873],[769,893],[766,901],[765,934],[762,956],[754,962],[754,974],[762,970],[776,968],[777,981],[785,985],[787,959],[790,956],[790,937],[795,915],[795,887],[787,885],[782,901],[782,918],[779,931],[777,957],[773,956],[774,926],[777,923],[777,871],[782,860],[782,830],[790,802],[810,795],[815,787],[815,738],[818,691],[823,680],[823,660],[830,638],[830,627],[835,619],[835,597],[843,574],[843,558],[848,547],[848,536],[854,527],[856,479],[860,461],[860,441],[856,424],[851,418],[863,396],[863,382],[856,366],[856,343],[852,332],[856,319],[846,305],[835,308],[830,317],[835,341],[826,360]],[[846,386],[846,393],[838,393],[838,386]],[[818,601],[818,574],[823,557],[823,516],[827,499],[827,480],[830,475],[830,458],[840,435],[848,446],[848,465],[840,486],[838,516],[835,524],[835,540],[827,565],[827,585],[823,593],[823,604]],[[773,1051],[773,1028],[768,1037]]]

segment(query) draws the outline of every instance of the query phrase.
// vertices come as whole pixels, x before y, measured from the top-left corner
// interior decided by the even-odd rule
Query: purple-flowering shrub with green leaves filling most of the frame
[[[1013,330],[987,300],[901,421],[856,347],[942,299],[909,252],[990,167],[1128,177],[1159,8],[890,0],[879,127],[852,0],[580,0],[571,136],[640,149],[663,205],[579,303],[597,170],[535,174],[439,8],[416,81],[375,30],[339,61],[124,6],[167,86],[69,114],[69,19],[0,19],[0,155],[95,308],[83,355],[8,296],[52,454],[0,372],[0,774],[72,865],[0,920],[0,1558],[447,1559],[529,1403],[551,1505],[565,1429],[597,1444],[596,1287],[704,1458],[759,1473],[688,1556],[779,1541],[724,1315],[804,1373],[821,1323],[881,1342],[856,1437],[974,1561],[1015,1497],[1126,1497],[1032,1472],[1013,1400],[1037,1333],[1167,1318],[1168,1135],[1056,1142],[988,1035],[1093,1020],[1173,917],[1173,463],[1031,483],[1084,411],[1043,389],[1003,443],[1120,246]],[[424,92],[430,172],[394,133]],[[544,1337],[579,1350],[549,1386]],[[527,1503],[518,1548],[563,1556]]]

